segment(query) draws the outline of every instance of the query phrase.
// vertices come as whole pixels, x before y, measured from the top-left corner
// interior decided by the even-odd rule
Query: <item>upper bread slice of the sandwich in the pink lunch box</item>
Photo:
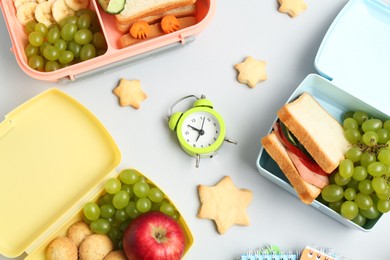
[[[115,15],[115,19],[119,24],[132,24],[144,17],[159,15],[195,2],[196,0],[126,0],[123,11]]]

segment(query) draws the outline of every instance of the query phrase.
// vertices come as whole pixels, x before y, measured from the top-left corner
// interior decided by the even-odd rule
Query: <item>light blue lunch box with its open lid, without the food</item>
[[[358,110],[382,120],[388,119],[389,28],[389,4],[381,0],[350,0],[333,21],[317,52],[314,65],[320,75],[308,75],[286,103],[308,92],[340,123],[345,112]],[[277,118],[274,123],[276,121]],[[256,166],[262,176],[298,197],[263,147]],[[367,219],[361,227],[323,204],[320,198],[310,205],[340,223],[362,231],[370,231],[382,216]]]

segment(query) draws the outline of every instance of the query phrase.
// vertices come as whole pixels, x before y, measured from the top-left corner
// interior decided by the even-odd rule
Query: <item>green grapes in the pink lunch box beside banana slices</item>
[[[25,32],[28,66],[38,71],[55,71],[107,50],[96,13],[90,9],[79,10],[49,28],[43,23],[29,22]]]

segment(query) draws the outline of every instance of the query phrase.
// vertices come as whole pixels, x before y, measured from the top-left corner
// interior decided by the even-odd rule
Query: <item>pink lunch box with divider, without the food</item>
[[[89,8],[96,12],[102,32],[107,42],[107,51],[90,60],[79,62],[53,72],[40,72],[28,66],[24,49],[27,46],[27,35],[24,27],[16,18],[16,9],[12,0],[0,0],[0,7],[10,34],[12,48],[19,67],[30,77],[51,81],[62,82],[74,81],[79,78],[95,75],[101,71],[134,62],[150,55],[163,53],[166,50],[175,49],[194,41],[195,35],[203,31],[210,22],[215,11],[215,0],[197,0],[196,15],[197,23],[193,26],[180,29],[176,32],[130,45],[125,48],[119,47],[119,38],[122,36],[115,26],[115,17],[105,13],[97,1],[90,0]]]

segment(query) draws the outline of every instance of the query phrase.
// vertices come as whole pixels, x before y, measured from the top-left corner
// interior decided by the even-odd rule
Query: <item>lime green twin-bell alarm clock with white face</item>
[[[173,113],[173,108],[187,98],[196,99],[192,108]],[[177,100],[170,108],[168,124],[169,128],[176,132],[182,149],[196,157],[196,167],[199,167],[201,157],[212,158],[224,141],[237,143],[226,139],[225,121],[204,95],[200,98],[189,95]]]

